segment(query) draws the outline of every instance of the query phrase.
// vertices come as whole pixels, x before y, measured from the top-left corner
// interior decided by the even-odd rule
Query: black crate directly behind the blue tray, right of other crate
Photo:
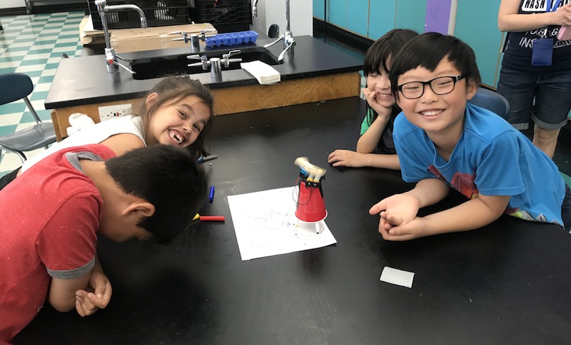
[[[252,21],[250,0],[195,0],[198,21],[218,32],[247,31]]]

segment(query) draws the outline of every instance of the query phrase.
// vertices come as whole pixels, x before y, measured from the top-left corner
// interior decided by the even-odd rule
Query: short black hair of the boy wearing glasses
[[[399,76],[419,66],[434,71],[443,58],[448,58],[460,74],[465,76],[467,83],[472,80],[476,86],[480,85],[482,78],[472,48],[455,36],[428,32],[408,41],[393,58],[389,79],[395,98],[399,98]]]

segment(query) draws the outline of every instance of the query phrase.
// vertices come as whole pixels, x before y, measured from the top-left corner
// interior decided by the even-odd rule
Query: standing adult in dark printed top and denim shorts
[[[509,31],[497,84],[510,103],[507,120],[525,130],[531,118],[533,143],[550,158],[571,109],[571,41],[557,40],[570,25],[571,0],[502,0],[497,16]]]

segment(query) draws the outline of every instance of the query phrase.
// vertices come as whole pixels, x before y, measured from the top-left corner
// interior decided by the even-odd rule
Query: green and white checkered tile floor
[[[28,98],[42,121],[51,122],[44,101],[54,79],[61,54],[80,56],[79,23],[84,12],[61,12],[23,16],[1,16],[0,74],[21,72],[31,77],[34,92]],[[14,133],[35,121],[24,101],[0,105],[0,135]],[[36,152],[26,153],[32,157]],[[21,161],[15,153],[2,151],[0,176],[18,168]]]

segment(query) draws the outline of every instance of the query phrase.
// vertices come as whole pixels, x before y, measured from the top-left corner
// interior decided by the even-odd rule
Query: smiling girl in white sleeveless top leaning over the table
[[[145,96],[139,115],[127,115],[89,126],[26,160],[21,168],[0,179],[0,190],[16,176],[51,153],[72,146],[101,143],[117,155],[146,145],[173,145],[193,157],[208,155],[204,140],[211,127],[213,96],[188,76],[169,76]]]

